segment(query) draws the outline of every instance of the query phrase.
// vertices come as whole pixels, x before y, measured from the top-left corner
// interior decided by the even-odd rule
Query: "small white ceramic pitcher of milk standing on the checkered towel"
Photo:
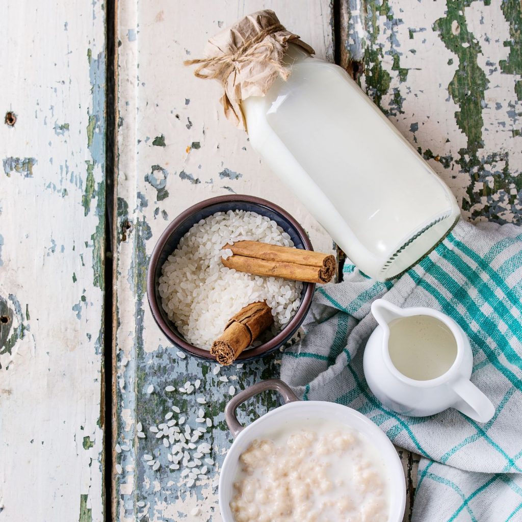
[[[364,375],[385,407],[414,417],[446,408],[478,422],[493,417],[493,404],[470,381],[469,339],[452,318],[384,299],[372,303],[372,313],[378,326],[366,344]]]

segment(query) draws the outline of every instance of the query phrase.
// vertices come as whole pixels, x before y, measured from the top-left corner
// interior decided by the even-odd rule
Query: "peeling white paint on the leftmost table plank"
[[[101,522],[103,291],[93,236],[99,246],[105,72],[93,67],[103,62],[105,15],[98,0],[4,2],[2,13],[0,157],[34,161],[25,172],[0,169],[0,298],[15,314],[11,332],[25,328],[10,354],[0,347],[0,520],[78,520],[85,495]]]

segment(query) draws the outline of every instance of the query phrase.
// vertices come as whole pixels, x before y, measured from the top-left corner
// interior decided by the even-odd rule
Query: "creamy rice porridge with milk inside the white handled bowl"
[[[359,432],[302,421],[241,454],[230,509],[235,522],[387,522],[386,477]]]

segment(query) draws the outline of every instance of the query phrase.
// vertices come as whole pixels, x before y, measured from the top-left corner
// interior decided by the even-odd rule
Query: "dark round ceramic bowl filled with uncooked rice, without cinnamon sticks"
[[[223,245],[262,241],[313,250],[306,232],[288,212],[265,199],[219,196],[182,212],[152,251],[147,296],[156,323],[177,348],[214,360],[209,349],[229,319],[244,306],[266,301],[274,325],[236,362],[280,348],[301,326],[315,284],[237,272],[221,263]]]

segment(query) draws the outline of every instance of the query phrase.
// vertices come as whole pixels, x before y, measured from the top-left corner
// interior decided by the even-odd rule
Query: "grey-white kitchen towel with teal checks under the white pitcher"
[[[471,380],[495,416],[475,422],[450,409],[405,417],[384,408],[364,380],[362,353],[376,327],[374,299],[429,306],[453,317],[471,340]],[[390,440],[422,456],[414,522],[522,520],[522,230],[460,221],[395,282],[352,265],[344,281],[318,288],[306,336],[283,354],[281,378],[304,400],[364,413]]]

